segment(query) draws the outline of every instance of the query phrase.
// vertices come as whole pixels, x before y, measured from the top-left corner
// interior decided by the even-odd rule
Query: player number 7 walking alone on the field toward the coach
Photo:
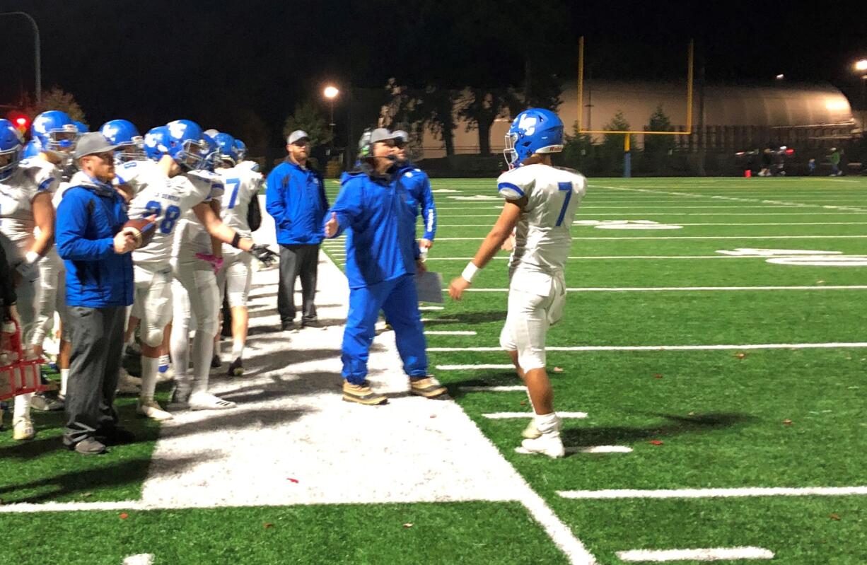
[[[563,457],[564,445],[545,372],[545,334],[563,315],[570,227],[587,191],[587,180],[581,174],[551,166],[550,154],[562,150],[563,122],[557,114],[538,108],[518,114],[506,135],[505,158],[510,170],[497,179],[499,194],[505,198],[503,211],[473,261],[448,289],[453,299],[460,300],[473,277],[515,230],[508,313],[500,346],[512,357],[535,412],[517,451],[551,458]]]

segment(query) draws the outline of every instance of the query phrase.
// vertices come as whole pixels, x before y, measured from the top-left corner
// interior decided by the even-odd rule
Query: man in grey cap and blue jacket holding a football
[[[111,185],[114,149],[101,133],[75,148],[81,170],[57,207],[57,253],[66,263],[72,355],[63,443],[90,455],[134,440],[117,425],[114,391],[121,368],[126,308],[133,303],[134,238],[122,231],[126,202]]]

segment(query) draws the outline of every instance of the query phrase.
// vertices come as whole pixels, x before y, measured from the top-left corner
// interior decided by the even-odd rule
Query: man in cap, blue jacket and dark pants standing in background
[[[284,330],[295,329],[295,279],[301,277],[301,326],[316,321],[316,271],[328,199],[322,176],[307,166],[310,139],[297,130],[286,140],[286,160],[268,175],[265,209],[274,218],[280,244],[277,311]]]

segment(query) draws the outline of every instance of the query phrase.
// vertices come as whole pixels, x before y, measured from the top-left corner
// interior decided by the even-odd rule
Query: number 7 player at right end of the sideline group
[[[249,167],[239,167],[235,140],[228,133],[218,133],[215,138],[219,147],[217,173],[223,181],[222,217],[232,229],[251,237],[247,212],[251,202],[262,188],[262,175]],[[231,363],[228,374],[239,377],[244,374],[244,343],[247,341],[247,297],[250,295],[251,257],[229,245],[223,245],[223,268],[217,273],[220,291],[219,303],[227,296],[231,308]]]

